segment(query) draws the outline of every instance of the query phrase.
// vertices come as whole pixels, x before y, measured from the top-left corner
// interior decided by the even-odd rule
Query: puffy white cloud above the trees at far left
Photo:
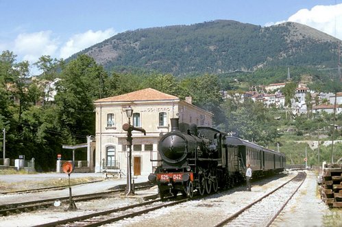
[[[51,31],[19,34],[14,40],[13,51],[21,59],[36,62],[42,55],[55,55],[58,39],[51,38]]]

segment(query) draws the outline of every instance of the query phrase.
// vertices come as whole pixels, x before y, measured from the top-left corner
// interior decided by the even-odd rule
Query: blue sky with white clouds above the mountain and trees
[[[342,40],[342,0],[0,0],[0,51],[65,59],[123,31],[217,19],[295,21]]]

